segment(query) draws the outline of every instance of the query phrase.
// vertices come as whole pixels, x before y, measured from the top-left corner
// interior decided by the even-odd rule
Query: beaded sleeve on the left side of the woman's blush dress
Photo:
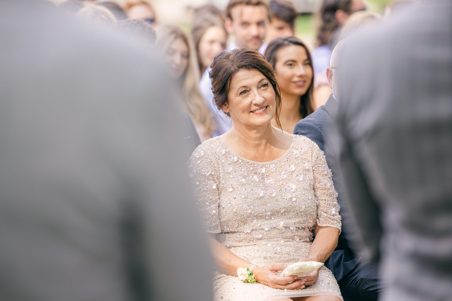
[[[206,232],[219,233],[220,226],[220,170],[206,144],[195,149],[188,160],[195,199],[201,211]]]

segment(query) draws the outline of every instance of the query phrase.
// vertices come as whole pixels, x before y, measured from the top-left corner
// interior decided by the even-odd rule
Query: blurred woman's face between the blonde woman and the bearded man
[[[226,49],[226,38],[223,28],[217,26],[207,28],[198,44],[199,58],[203,68],[210,66],[215,56]]]

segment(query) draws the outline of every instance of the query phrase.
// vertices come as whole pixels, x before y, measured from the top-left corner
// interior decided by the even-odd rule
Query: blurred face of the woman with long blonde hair
[[[188,46],[184,40],[175,39],[165,52],[165,59],[170,64],[170,75],[179,79],[188,66]]]

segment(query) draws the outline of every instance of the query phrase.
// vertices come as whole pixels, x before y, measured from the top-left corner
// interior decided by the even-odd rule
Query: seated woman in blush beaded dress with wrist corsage
[[[281,96],[258,52],[223,51],[211,67],[215,103],[232,128],[198,146],[189,169],[217,262],[214,300],[342,300],[323,266],[301,278],[277,275],[287,263],[324,262],[337,244],[339,208],[323,153],[271,124],[279,125]]]

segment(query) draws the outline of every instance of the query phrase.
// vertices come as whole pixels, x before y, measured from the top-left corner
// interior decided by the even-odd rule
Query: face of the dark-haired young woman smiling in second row
[[[312,82],[312,65],[303,46],[282,47],[276,53],[276,80],[281,94],[306,94]]]

